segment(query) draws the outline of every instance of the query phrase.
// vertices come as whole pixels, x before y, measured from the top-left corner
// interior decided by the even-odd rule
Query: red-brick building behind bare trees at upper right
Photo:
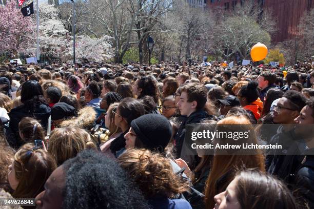
[[[314,8],[314,0],[251,0],[261,8],[269,8],[273,18],[277,20],[279,29],[273,35],[274,43],[295,37],[298,33],[297,27],[300,18],[306,11]],[[243,0],[207,0],[207,7],[222,7],[225,10],[232,10],[238,4],[243,5]]]

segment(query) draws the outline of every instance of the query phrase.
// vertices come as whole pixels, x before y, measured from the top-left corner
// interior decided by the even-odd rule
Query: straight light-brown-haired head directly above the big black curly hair
[[[48,153],[55,159],[57,165],[61,165],[67,159],[75,157],[77,153],[88,148],[95,148],[95,144],[84,129],[57,128],[49,137]]]

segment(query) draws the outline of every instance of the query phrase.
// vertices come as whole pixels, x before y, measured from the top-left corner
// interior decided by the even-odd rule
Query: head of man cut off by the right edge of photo
[[[298,124],[314,124],[314,97],[308,99],[306,106],[302,108],[295,122]]]

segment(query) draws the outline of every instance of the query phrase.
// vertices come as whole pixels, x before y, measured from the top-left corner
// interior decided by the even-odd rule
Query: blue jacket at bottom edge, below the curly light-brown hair
[[[148,203],[152,209],[192,209],[190,203],[184,199],[168,199],[160,196],[149,198]]]

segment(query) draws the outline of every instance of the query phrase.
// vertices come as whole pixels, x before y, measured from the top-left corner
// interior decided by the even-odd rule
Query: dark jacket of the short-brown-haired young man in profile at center
[[[186,132],[185,126],[187,124],[200,123],[201,120],[203,120],[203,119],[214,119],[214,120],[217,120],[217,117],[215,117],[213,115],[209,115],[209,114],[207,114],[203,110],[199,110],[199,111],[193,112],[187,118],[187,120],[185,120],[185,121],[183,121],[181,123],[181,126],[180,126],[178,132],[174,136],[174,141],[175,141],[174,156],[175,157],[180,157],[181,156],[181,151],[182,151],[184,137],[185,137],[185,132]]]

